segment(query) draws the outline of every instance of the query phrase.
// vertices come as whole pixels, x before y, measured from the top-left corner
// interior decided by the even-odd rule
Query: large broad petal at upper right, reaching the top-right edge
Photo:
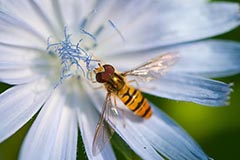
[[[117,33],[115,35],[118,37],[108,39],[105,33],[102,43],[99,40],[98,54],[139,51],[199,40],[227,32],[240,22],[239,6],[236,3],[209,3],[166,11],[159,7],[162,6],[155,4],[151,10],[141,10],[142,13],[136,13],[127,25],[121,25],[119,17],[113,18],[126,43],[122,42]],[[126,17],[131,17],[128,12],[125,13],[128,14]],[[112,46],[111,51],[109,46]]]

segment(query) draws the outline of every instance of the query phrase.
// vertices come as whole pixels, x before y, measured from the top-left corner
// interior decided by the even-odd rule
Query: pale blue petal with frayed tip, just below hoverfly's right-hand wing
[[[227,105],[231,85],[184,74],[166,74],[159,80],[139,83],[143,92],[207,106]]]

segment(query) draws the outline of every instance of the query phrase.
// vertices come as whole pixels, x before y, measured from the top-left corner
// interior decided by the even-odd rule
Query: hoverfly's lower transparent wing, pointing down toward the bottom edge
[[[100,153],[105,144],[111,139],[114,130],[108,123],[114,126],[116,116],[118,116],[118,113],[116,107],[112,105],[111,93],[107,93],[93,139],[92,153],[94,156]]]

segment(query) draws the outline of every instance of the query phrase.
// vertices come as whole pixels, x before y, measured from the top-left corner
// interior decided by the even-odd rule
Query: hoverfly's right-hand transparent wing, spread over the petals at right
[[[151,81],[161,77],[179,59],[177,53],[167,53],[155,57],[146,63],[122,73],[123,76],[136,76],[142,81]]]

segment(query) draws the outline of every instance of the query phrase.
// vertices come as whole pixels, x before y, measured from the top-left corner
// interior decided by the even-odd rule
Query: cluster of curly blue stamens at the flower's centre
[[[60,77],[59,82],[56,87],[62,83],[64,79],[67,79],[76,73],[73,73],[71,68],[76,67],[76,71],[81,71],[82,74],[88,77],[88,72],[93,71],[95,62],[100,62],[99,60],[93,59],[92,55],[89,55],[84,49],[80,47],[80,42],[73,45],[70,40],[71,35],[67,34],[67,28],[64,28],[64,40],[58,43],[50,43],[50,38],[48,38],[48,53],[52,54],[50,49],[54,47],[54,53],[59,57],[61,61]],[[94,63],[94,64],[93,64]],[[83,66],[84,65],[84,66]],[[84,70],[87,70],[87,73]]]

